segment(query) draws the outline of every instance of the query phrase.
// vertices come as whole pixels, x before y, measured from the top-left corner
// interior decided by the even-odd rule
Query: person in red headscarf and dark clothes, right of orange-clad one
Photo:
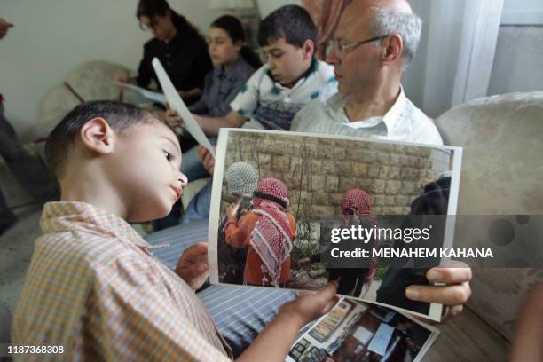
[[[373,228],[377,224],[377,220],[371,214],[372,202],[369,193],[362,189],[350,189],[343,194],[341,201],[343,227],[361,225],[365,228]],[[376,241],[370,240],[365,247],[376,248]],[[334,244],[330,244],[327,249],[327,254],[331,248],[335,248]],[[303,267],[311,263],[319,263],[321,261],[320,254],[315,254],[311,257],[306,257],[298,261],[297,266]],[[376,260],[369,261],[369,267],[365,268],[334,268],[327,266],[328,280],[338,280],[339,287],[337,292],[342,295],[359,296],[364,285],[369,286],[374,279]]]

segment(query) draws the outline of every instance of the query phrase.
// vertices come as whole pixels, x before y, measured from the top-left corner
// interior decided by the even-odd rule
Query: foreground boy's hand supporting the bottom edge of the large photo
[[[318,293],[300,294],[294,301],[283,304],[278,318],[295,321],[299,328],[305,326],[330,311],[339,301],[339,296],[335,294],[337,287],[337,281],[332,281]]]

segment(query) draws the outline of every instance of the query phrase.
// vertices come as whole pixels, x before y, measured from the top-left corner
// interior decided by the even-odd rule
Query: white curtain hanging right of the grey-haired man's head
[[[416,2],[429,6],[426,15],[422,14],[424,44],[416,59],[424,62],[418,98],[425,113],[435,117],[452,106],[487,95],[503,1]]]

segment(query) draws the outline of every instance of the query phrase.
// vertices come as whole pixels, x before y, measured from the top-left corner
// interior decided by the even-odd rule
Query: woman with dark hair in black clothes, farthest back
[[[126,74],[115,75],[115,81],[137,83],[144,88],[152,79],[159,84],[151,64],[157,57],[185,103],[193,104],[200,98],[204,77],[213,67],[204,38],[166,0],[139,0],[136,16],[140,27],[154,37],[144,45],[138,76],[130,79]]]

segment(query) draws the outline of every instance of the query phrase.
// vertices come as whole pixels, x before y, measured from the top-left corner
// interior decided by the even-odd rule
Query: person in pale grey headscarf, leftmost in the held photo
[[[235,162],[226,170],[225,177],[228,196],[232,204],[238,204],[235,215],[236,221],[247,214],[252,208],[253,193],[258,184],[258,173],[248,162]],[[225,218],[219,226],[217,238],[219,278],[223,283],[242,284],[243,271],[247,250],[245,248],[232,248],[226,243],[224,226],[228,218]]]

